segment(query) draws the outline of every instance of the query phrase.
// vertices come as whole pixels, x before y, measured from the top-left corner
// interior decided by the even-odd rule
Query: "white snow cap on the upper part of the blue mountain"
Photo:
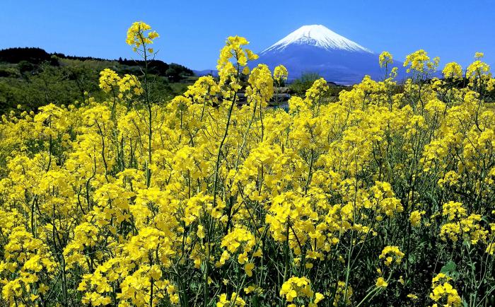
[[[371,50],[348,40],[346,37],[334,33],[325,25],[303,25],[293,33],[282,38],[274,45],[263,50],[262,53],[271,50],[284,50],[289,45],[313,45],[325,50],[346,50],[352,52],[368,52]]]

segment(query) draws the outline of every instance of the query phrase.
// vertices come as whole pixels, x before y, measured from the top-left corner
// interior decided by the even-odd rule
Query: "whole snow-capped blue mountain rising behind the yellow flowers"
[[[317,73],[327,81],[349,85],[359,83],[363,76],[374,80],[385,77],[378,64],[378,54],[334,33],[324,25],[303,25],[260,53],[255,64],[267,64],[270,69],[283,64],[289,71],[289,81],[306,72]],[[399,77],[404,76],[402,64]],[[390,71],[389,68],[389,71]]]

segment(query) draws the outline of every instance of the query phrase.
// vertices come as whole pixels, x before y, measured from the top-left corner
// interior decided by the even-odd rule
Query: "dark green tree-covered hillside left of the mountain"
[[[83,101],[85,92],[103,99],[100,71],[110,68],[121,75],[140,76],[143,66],[143,61],[75,57],[36,47],[0,50],[0,115],[17,105],[36,110],[47,103]],[[191,69],[161,60],[148,62],[148,72],[157,101],[183,93],[196,79]]]

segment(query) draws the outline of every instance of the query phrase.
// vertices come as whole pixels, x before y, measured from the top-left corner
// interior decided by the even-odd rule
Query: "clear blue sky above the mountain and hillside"
[[[158,59],[192,69],[214,68],[229,35],[247,37],[260,52],[308,24],[325,25],[374,52],[388,50],[400,61],[424,49],[442,63],[465,65],[481,51],[495,64],[494,0],[0,0],[0,49],[129,58],[124,40],[133,21],[160,33],[153,46]]]

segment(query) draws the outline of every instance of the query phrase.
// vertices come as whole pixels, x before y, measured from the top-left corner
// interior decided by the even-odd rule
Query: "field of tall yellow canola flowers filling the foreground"
[[[127,43],[147,61],[157,37]],[[105,69],[105,101],[1,118],[1,306],[495,306],[483,55],[432,79],[414,52],[397,91],[383,52],[383,81],[329,103],[320,79],[286,112],[288,72],[247,45],[168,103],[146,66]]]

